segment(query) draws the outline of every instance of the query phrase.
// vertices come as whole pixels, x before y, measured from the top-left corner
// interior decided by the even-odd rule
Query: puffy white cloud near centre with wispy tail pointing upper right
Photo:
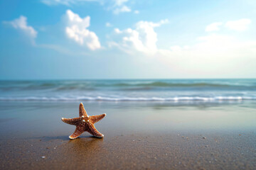
[[[110,44],[111,46],[118,46],[125,51],[137,50],[146,55],[154,55],[158,50],[156,47],[157,34],[154,28],[168,22],[167,19],[161,20],[158,23],[139,21],[136,23],[134,30],[132,28],[125,30],[115,28],[114,33],[119,40],[117,40],[118,43],[111,42]]]

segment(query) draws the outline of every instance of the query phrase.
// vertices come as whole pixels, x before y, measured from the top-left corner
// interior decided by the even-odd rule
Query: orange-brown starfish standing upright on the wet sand
[[[75,132],[73,132],[72,135],[69,136],[71,140],[78,138],[80,135],[82,135],[83,132],[90,132],[95,137],[104,137],[103,134],[101,134],[97,129],[95,128],[95,123],[102,120],[104,118],[106,113],[102,115],[87,115],[84,106],[82,103],[80,103],[79,106],[79,118],[61,118],[64,123],[68,123],[70,125],[75,125]]]

